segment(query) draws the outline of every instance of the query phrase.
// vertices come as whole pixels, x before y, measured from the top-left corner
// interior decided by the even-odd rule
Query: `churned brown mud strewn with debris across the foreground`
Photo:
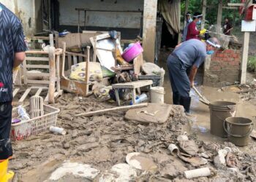
[[[150,105],[159,104],[135,108],[135,114],[154,118],[159,112],[152,112]],[[184,133],[188,121],[181,106],[157,108],[170,111],[162,123],[124,119],[131,111],[74,117],[113,106],[72,94],[62,95],[54,106],[61,109],[58,125],[66,135],[49,131],[13,143],[11,168],[23,174],[23,181],[37,177],[42,181],[256,180],[255,156],[232,143],[207,143]],[[80,169],[88,170],[80,173]]]

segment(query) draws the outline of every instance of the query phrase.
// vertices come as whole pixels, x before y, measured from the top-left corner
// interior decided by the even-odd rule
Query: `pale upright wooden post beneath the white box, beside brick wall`
[[[249,32],[244,32],[244,45],[241,61],[241,84],[246,84],[246,72],[249,50]]]

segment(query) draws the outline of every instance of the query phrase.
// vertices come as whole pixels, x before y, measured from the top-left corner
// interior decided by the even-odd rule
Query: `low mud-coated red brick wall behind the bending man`
[[[240,63],[241,50],[219,50],[212,56],[211,63],[206,68],[203,84],[222,87],[227,82],[230,84],[239,82]]]

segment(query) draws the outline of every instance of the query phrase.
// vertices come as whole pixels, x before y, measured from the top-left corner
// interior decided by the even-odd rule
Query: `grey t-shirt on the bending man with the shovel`
[[[197,39],[190,39],[176,48],[172,55],[181,60],[186,67],[195,65],[199,68],[206,59],[206,44]]]

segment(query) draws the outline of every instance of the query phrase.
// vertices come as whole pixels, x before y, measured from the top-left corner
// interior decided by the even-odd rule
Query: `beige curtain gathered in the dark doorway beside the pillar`
[[[167,29],[171,35],[180,33],[181,20],[178,18],[180,14],[180,4],[178,0],[159,0],[158,9],[162,17],[165,18]]]

